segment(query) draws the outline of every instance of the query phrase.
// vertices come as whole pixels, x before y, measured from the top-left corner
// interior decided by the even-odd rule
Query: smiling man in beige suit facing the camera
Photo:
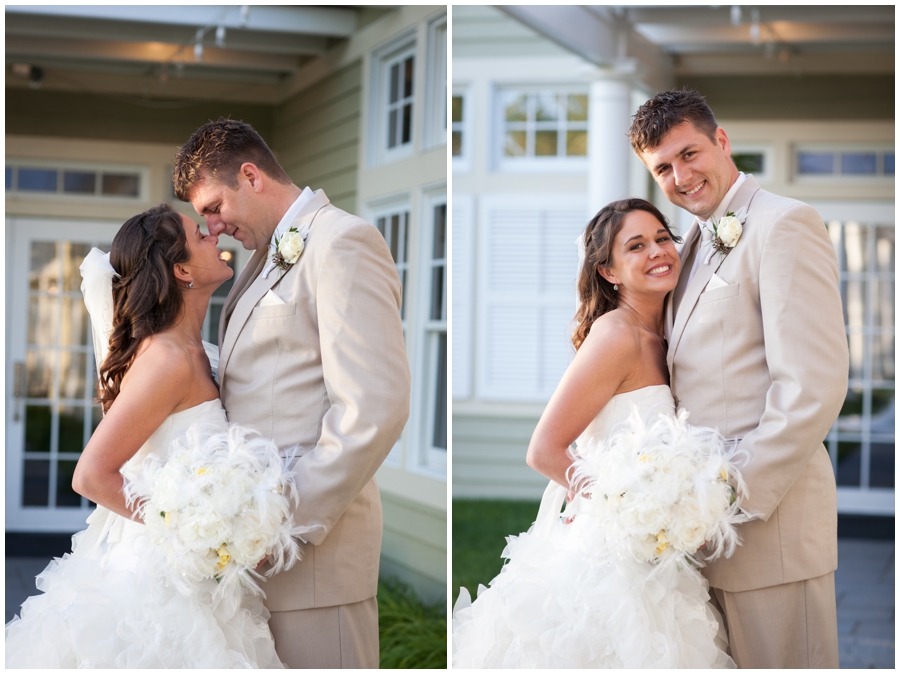
[[[837,503],[822,441],[849,356],[828,232],[813,208],[737,170],[696,92],[657,95],[628,136],[669,201],[696,216],[667,299],[672,392],[692,423],[749,457],[743,545],[704,569],[732,657],[742,668],[838,667]],[[723,222],[729,213],[737,220]]]

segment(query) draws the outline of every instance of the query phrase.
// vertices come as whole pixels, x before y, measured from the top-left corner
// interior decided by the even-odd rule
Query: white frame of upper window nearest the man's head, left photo
[[[410,98],[410,136],[409,142],[401,143],[393,148],[388,147],[388,124],[390,122],[390,86],[391,66],[402,63],[407,58],[413,59],[413,91]],[[372,54],[372,89],[370,109],[374,114],[370,115],[369,123],[369,152],[370,164],[378,166],[388,164],[415,153],[417,143],[417,108],[421,102],[417,87],[419,81],[416,78],[420,56],[417,50],[415,32],[407,32],[389,45],[376,50]],[[418,99],[418,100],[417,100]],[[402,106],[400,108],[402,111]],[[402,114],[401,114],[402,116]]]

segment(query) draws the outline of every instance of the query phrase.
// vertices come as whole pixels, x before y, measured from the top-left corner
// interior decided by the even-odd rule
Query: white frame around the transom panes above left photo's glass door
[[[64,171],[81,171],[86,173],[127,173],[137,175],[138,194],[129,196],[107,196],[103,194],[75,194],[63,192],[62,186],[57,184],[56,192],[42,192],[38,190],[19,190],[13,187],[6,191],[7,199],[40,200],[40,201],[64,201],[69,203],[90,204],[142,204],[150,199],[150,167],[138,164],[112,164],[97,162],[78,162],[55,159],[25,159],[7,157],[6,166],[19,168],[35,168]],[[98,186],[99,189],[99,186]]]

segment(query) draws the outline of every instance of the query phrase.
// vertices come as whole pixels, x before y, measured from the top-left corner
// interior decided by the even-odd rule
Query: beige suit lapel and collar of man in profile
[[[306,205],[301,209],[300,213],[297,214],[297,217],[294,219],[292,226],[296,227],[298,230],[303,229],[305,226],[311,226],[313,220],[315,219],[318,212],[325,206],[327,206],[330,202],[328,201],[328,197],[325,196],[325,192],[322,190],[317,191],[312,199],[310,199]],[[281,281],[287,274],[293,271],[293,267],[288,271],[282,271],[281,269],[273,269],[267,278],[263,278],[262,270],[265,267],[265,264],[269,258],[269,250],[268,246],[264,250],[254,251],[253,257],[250,258],[250,262],[247,264],[247,267],[244,269],[244,272],[241,273],[241,277],[238,279],[238,284],[240,287],[235,287],[232,289],[231,293],[229,293],[229,300],[231,299],[231,295],[235,296],[234,302],[230,303],[226,301],[225,309],[226,311],[230,308],[230,316],[227,318],[227,327],[225,329],[224,336],[220,340],[220,352],[219,352],[219,382],[224,381],[225,377],[225,369],[228,366],[228,360],[231,358],[231,354],[234,351],[234,344],[237,341],[238,335],[240,335],[241,330],[243,330],[244,325],[247,320],[250,318],[250,314],[253,313],[253,309],[262,299],[263,295],[265,295],[275,284]],[[255,265],[253,263],[256,262]],[[297,264],[303,264],[303,256],[300,256],[300,260],[298,260]],[[254,271],[252,274],[247,274],[247,271],[253,267]],[[231,305],[229,307],[229,304]]]

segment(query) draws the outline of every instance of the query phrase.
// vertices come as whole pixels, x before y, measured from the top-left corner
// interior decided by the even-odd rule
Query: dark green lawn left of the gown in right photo
[[[475,598],[478,584],[500,573],[506,537],[527,531],[539,501],[453,501],[453,601],[464,585]]]

